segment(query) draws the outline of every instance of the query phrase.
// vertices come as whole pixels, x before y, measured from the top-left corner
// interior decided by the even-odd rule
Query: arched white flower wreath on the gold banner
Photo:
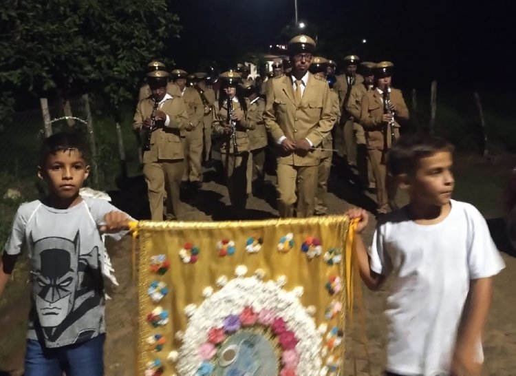
[[[253,311],[269,309],[282,317],[288,330],[299,339],[296,351],[299,353],[297,375],[319,376],[323,368],[321,348],[322,333],[317,331],[314,319],[299,301],[299,289],[286,291],[277,282],[261,281],[257,278],[235,278],[229,280],[221,290],[206,297],[195,309],[184,333],[184,341],[179,349],[178,375],[195,375],[202,363],[198,348],[206,342],[208,331],[220,327],[224,317],[238,315],[246,306]]]

